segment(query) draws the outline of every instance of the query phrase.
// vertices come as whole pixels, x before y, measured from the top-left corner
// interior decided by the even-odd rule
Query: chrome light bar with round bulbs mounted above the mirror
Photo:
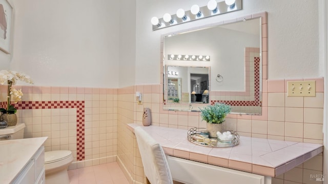
[[[232,0],[226,1],[233,2]],[[153,31],[242,9],[242,0],[235,0],[235,3],[232,5],[228,5],[229,3],[227,4],[226,1],[217,3],[216,8],[214,6],[216,2],[213,3],[213,1],[210,1],[207,6],[199,7],[198,5],[194,5],[189,11],[178,9],[174,15],[166,13],[163,15],[163,18],[153,17],[151,19]]]

